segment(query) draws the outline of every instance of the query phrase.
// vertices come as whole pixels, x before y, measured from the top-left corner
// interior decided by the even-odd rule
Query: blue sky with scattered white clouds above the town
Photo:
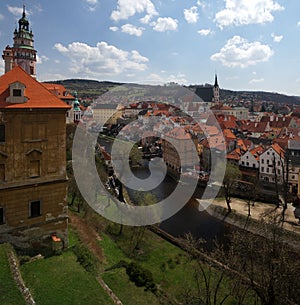
[[[0,47],[22,1],[0,3]],[[300,95],[299,0],[26,0],[40,81],[213,83]],[[3,71],[3,63],[0,63]]]

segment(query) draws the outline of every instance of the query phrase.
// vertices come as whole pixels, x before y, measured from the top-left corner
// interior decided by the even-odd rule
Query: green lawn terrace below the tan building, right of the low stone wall
[[[113,304],[71,251],[26,263],[21,272],[37,305]]]

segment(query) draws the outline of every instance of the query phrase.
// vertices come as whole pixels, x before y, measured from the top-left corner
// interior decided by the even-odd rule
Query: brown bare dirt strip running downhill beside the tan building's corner
[[[71,225],[76,228],[82,242],[90,249],[99,262],[103,262],[105,258],[98,243],[101,237],[95,228],[88,224],[85,219],[75,215],[71,211],[69,211],[69,220]]]

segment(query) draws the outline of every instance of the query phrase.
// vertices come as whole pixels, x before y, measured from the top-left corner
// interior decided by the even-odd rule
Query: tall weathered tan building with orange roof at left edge
[[[0,242],[67,246],[69,108],[19,66],[0,77]]]

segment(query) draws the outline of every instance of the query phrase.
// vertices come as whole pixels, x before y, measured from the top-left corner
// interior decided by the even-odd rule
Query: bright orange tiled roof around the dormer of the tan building
[[[10,95],[9,86],[20,82],[26,86],[24,95],[28,98],[25,103],[6,102]],[[0,109],[25,109],[25,108],[60,108],[70,109],[66,103],[47,90],[41,83],[26,73],[21,67],[16,66],[0,77]]]

